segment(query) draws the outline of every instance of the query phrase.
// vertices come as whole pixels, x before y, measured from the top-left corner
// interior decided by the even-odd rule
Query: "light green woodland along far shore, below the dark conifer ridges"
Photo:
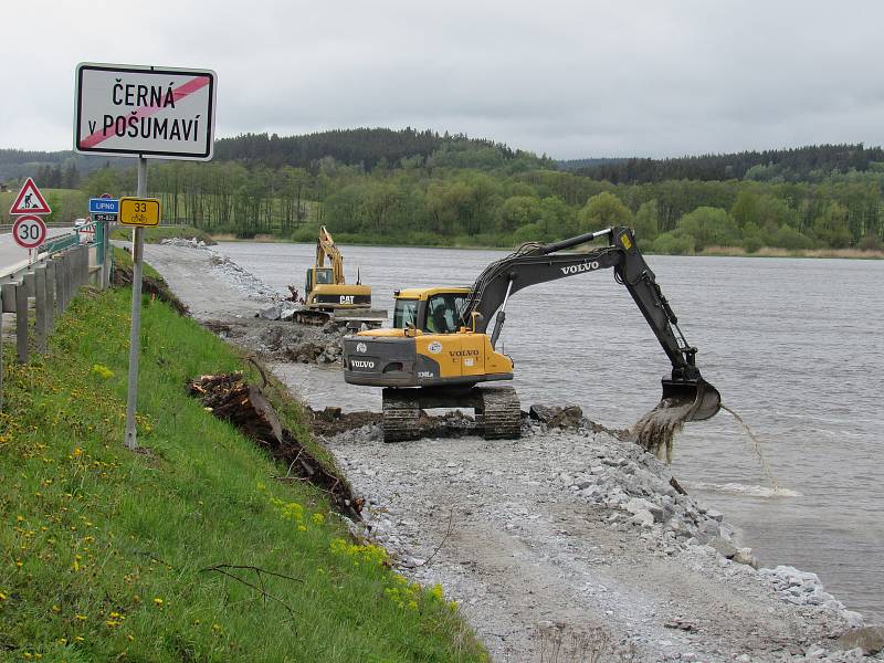
[[[615,183],[498,145],[449,141],[371,169],[330,156],[313,167],[155,164],[148,183],[166,221],[240,238],[312,241],[325,223],[341,241],[511,246],[627,224],[645,249],[693,253],[713,245],[874,249],[884,235],[884,172],[874,168],[814,182]],[[134,169],[84,178],[90,194],[134,190]]]

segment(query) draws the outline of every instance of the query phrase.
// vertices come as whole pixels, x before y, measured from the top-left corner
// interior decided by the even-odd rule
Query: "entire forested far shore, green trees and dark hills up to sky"
[[[225,139],[211,162],[151,164],[148,186],[165,222],[243,239],[312,241],[324,223],[345,242],[513,246],[628,225],[655,253],[882,249],[881,148],[562,166],[460,135],[358,129]],[[70,166],[50,168],[72,188]],[[134,168],[76,180],[90,196],[135,191]]]

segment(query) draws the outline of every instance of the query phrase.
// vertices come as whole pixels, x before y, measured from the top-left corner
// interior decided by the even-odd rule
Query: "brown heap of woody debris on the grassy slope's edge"
[[[190,393],[207,409],[230,421],[254,442],[288,466],[288,476],[316,486],[329,496],[341,515],[360,519],[361,499],[356,499],[349,485],[317,461],[288,429],[280,423],[276,411],[257,387],[242,380],[242,372],[201,376],[188,382]]]

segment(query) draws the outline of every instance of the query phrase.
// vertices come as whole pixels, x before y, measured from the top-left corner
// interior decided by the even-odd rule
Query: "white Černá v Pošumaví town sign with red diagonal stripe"
[[[80,64],[74,148],[84,154],[211,159],[214,97],[211,70]]]

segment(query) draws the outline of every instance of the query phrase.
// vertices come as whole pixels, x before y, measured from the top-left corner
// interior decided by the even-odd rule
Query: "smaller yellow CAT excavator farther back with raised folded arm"
[[[325,266],[326,257],[329,266]],[[356,285],[347,285],[344,278],[344,255],[325,225],[320,227],[316,242],[316,264],[307,267],[304,306],[295,313],[295,319],[303,324],[322,325],[333,317],[333,313],[339,311],[348,315],[335,317],[361,319],[371,317],[370,309],[371,286],[362,285],[358,276]],[[383,318],[386,317],[383,314]]]

